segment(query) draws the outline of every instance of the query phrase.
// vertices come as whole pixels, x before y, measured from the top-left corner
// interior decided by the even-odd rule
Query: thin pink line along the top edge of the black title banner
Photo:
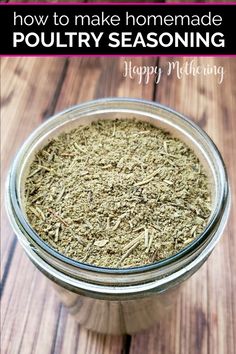
[[[11,6],[11,5],[24,5],[24,6],[28,6],[28,5],[34,5],[34,6],[38,6],[38,5],[79,5],[79,6],[88,6],[88,5],[92,5],[92,6],[96,6],[96,5],[119,5],[119,6],[124,6],[124,5],[154,5],[154,6],[176,6],[176,5],[199,5],[199,6],[208,6],[208,5],[236,5],[235,1],[232,2],[211,2],[211,3],[200,3],[200,2],[176,2],[176,3],[154,3],[154,2],[146,2],[146,3],[140,3],[140,2],[88,2],[88,3],[76,3],[76,2],[61,2],[61,3],[57,3],[57,2],[51,2],[51,3],[44,3],[44,2],[38,2],[38,3],[34,3],[34,2],[28,2],[28,3],[18,3],[18,2],[11,2],[11,3],[0,3],[0,5],[5,5],[5,6]]]

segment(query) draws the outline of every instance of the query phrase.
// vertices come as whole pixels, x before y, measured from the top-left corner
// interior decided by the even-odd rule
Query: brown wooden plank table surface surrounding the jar
[[[195,58],[223,66],[217,76],[163,74],[138,84],[123,77],[130,58],[5,58],[2,87],[2,353],[236,353],[236,60]],[[132,65],[180,65],[191,58],[132,58]],[[46,278],[18,244],[4,210],[4,183],[22,142],[42,121],[85,100],[128,96],[171,106],[196,121],[219,147],[231,179],[233,205],[222,240],[186,282],[175,311],[144,333],[106,336],[79,327]]]

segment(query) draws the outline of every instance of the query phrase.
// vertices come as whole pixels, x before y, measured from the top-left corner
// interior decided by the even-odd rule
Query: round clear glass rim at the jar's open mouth
[[[186,124],[191,126],[193,130],[195,130],[199,136],[201,136],[202,139],[204,139],[208,145],[211,147],[212,152],[214,153],[214,156],[217,160],[218,167],[221,173],[221,179],[222,179],[222,185],[221,185],[221,193],[220,193],[220,200],[217,200],[215,210],[213,211],[211,218],[203,230],[203,232],[195,239],[193,240],[189,245],[178,251],[177,253],[159,260],[154,263],[146,264],[146,265],[140,265],[140,266],[134,266],[134,267],[124,267],[124,268],[109,268],[109,267],[100,267],[96,266],[93,264],[88,264],[88,263],[82,263],[77,260],[74,260],[72,258],[69,258],[55,249],[53,249],[51,246],[49,246],[45,241],[43,241],[40,236],[34,231],[34,229],[31,227],[30,223],[27,221],[27,219],[24,216],[24,213],[22,211],[22,208],[20,206],[20,195],[18,193],[17,189],[17,178],[18,178],[18,165],[19,161],[22,158],[22,155],[24,157],[24,150],[29,146],[30,142],[32,142],[33,139],[37,139],[38,134],[45,128],[51,125],[53,126],[53,123],[55,123],[59,117],[63,116],[64,114],[68,114],[70,112],[74,112],[79,109],[86,109],[86,108],[93,108],[94,106],[96,107],[97,105],[104,105],[106,104],[141,104],[144,106],[149,106],[153,108],[158,108],[163,111],[169,112],[171,114],[174,114],[177,116],[180,120],[184,121]],[[92,100],[92,101],[87,101],[85,103],[75,105],[70,107],[69,109],[66,109],[62,112],[57,113],[56,115],[52,116],[50,120],[44,122],[41,124],[34,132],[28,137],[28,139],[25,141],[25,143],[22,145],[20,150],[18,151],[15,160],[12,164],[12,168],[9,173],[9,178],[8,178],[8,186],[7,186],[7,203],[8,203],[8,214],[9,210],[13,212],[14,218],[16,218],[16,223],[18,226],[20,225],[21,231],[24,230],[24,232],[29,236],[30,240],[33,241],[33,244],[36,244],[39,246],[39,248],[42,249],[43,252],[46,252],[46,254],[51,255],[54,259],[57,259],[59,261],[62,261],[63,263],[73,266],[77,269],[83,269],[85,271],[90,271],[90,272],[96,272],[96,273],[103,273],[103,274],[121,274],[121,275],[129,275],[129,274],[136,274],[136,273],[143,273],[147,272],[150,270],[158,270],[161,268],[164,268],[165,266],[172,265],[176,263],[177,261],[183,259],[185,256],[191,255],[196,249],[198,249],[202,244],[204,244],[208,237],[212,234],[213,230],[215,229],[216,225],[218,222],[220,222],[221,215],[224,212],[227,204],[227,199],[229,195],[229,186],[228,186],[228,177],[227,177],[227,172],[225,169],[225,165],[223,162],[223,159],[221,157],[221,154],[219,150],[217,149],[216,145],[214,142],[211,140],[211,138],[208,136],[208,134],[201,129],[197,124],[192,122],[190,119],[186,118],[184,115],[176,112],[175,110],[164,106],[162,104],[159,104],[157,102],[153,101],[148,101],[148,100],[142,100],[142,99],[134,99],[134,98],[103,98],[103,99],[97,99],[97,100]],[[11,219],[12,221],[12,219]]]

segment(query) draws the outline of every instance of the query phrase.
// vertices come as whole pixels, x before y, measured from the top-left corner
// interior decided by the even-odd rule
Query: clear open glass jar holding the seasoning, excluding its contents
[[[24,183],[29,165],[35,153],[62,131],[99,119],[133,117],[169,131],[199,157],[209,176],[213,196],[208,225],[180,252],[145,266],[103,268],[67,258],[40,239],[27,221]],[[145,329],[166,315],[174,304],[178,285],[205,262],[222,235],[229,214],[230,193],[220,153],[201,128],[157,103],[106,98],[59,113],[30,135],[12,164],[6,204],[20,244],[31,261],[54,283],[78,322],[98,332],[121,334]]]

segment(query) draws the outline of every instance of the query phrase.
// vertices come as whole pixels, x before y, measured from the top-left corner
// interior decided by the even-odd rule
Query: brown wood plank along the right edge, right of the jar
[[[191,58],[162,58],[160,66],[169,61],[180,64]],[[231,181],[235,181],[236,124],[235,59],[198,58],[197,65],[224,66],[226,74],[221,85],[213,76],[164,75],[156,89],[156,100],[171,106],[198,122],[216,142],[225,159]],[[235,200],[235,183],[232,183]],[[207,263],[185,284],[176,312],[157,324],[150,332],[134,336],[131,353],[235,353],[235,289],[236,249],[235,206],[220,244]],[[172,338],[173,336],[173,338]]]

